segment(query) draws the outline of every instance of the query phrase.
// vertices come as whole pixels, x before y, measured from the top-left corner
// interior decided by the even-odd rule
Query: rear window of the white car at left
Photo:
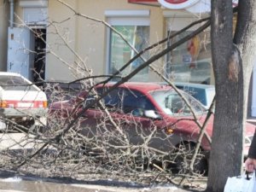
[[[19,76],[0,76],[0,86],[3,90],[37,90],[30,82]]]

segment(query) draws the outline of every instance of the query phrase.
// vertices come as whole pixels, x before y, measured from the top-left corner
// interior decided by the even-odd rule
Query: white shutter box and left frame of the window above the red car
[[[105,16],[111,26],[150,26],[149,10],[106,10]],[[110,68],[110,29],[107,30],[106,44],[106,73],[109,74]]]

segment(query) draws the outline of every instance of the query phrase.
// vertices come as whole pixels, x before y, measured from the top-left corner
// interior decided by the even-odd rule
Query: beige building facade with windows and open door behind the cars
[[[9,0],[1,1],[0,9],[1,70],[21,73],[32,81],[68,82],[88,73],[119,72],[137,51],[209,15],[210,4],[208,0]],[[150,49],[143,59],[175,44],[198,26],[201,24]],[[143,59],[131,62],[119,75],[131,73]],[[152,65],[174,81],[213,84],[210,29]],[[131,80],[161,81],[150,68]],[[249,102],[256,116],[256,67],[252,82]]]

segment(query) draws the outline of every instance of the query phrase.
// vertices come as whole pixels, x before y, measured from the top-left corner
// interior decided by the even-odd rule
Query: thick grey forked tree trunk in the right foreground
[[[247,91],[255,58],[255,5],[254,0],[240,1],[233,43],[232,0],[212,0],[216,108],[207,191],[224,191],[227,177],[241,174]]]

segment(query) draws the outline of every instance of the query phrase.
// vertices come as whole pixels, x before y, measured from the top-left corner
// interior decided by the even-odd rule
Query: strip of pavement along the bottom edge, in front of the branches
[[[53,183],[43,180],[24,180],[21,177],[0,179],[1,192],[188,192],[172,185],[152,186],[148,188],[114,187],[107,185]]]

